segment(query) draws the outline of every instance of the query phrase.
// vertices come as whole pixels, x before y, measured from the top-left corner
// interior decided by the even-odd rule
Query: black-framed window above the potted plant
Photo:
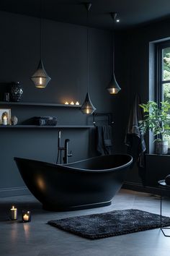
[[[157,45],[156,57],[156,99],[160,106],[161,101],[170,103],[170,41]],[[170,135],[166,135],[166,139],[169,141],[170,148]]]

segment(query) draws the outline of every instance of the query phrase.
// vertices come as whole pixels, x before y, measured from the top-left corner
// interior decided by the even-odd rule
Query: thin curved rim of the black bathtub
[[[70,164],[73,164],[73,163],[81,163],[81,162],[84,162],[84,161],[88,161],[88,160],[91,160],[91,159],[97,159],[97,158],[102,158],[106,155],[99,155],[99,156],[96,156],[96,157],[92,157],[92,158],[86,158],[86,159],[83,159],[83,160],[80,160],[80,161],[75,161],[73,163],[64,163],[64,164],[56,164],[56,163],[48,163],[48,162],[45,162],[45,161],[39,161],[39,160],[35,160],[35,159],[30,159],[30,158],[18,158],[18,157],[14,157],[14,160],[26,160],[26,161],[35,161],[35,162],[39,162],[39,163],[43,163],[45,164],[46,166],[53,166],[53,167],[58,167],[62,170],[71,170],[71,171],[83,171],[83,172],[88,172],[88,173],[102,173],[102,172],[109,172],[109,171],[117,171],[119,170],[120,168],[125,168],[126,166],[129,166],[131,163],[133,163],[133,157],[129,154],[112,154],[112,155],[128,155],[130,157],[130,161],[128,161],[128,163],[125,163],[121,166],[117,166],[115,168],[108,168],[108,169],[84,169],[84,168],[76,168],[76,167],[71,167],[69,166]],[[110,155],[111,156],[111,155]]]

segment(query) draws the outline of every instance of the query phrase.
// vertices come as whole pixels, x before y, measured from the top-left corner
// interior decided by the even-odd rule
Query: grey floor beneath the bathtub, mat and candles
[[[19,209],[19,220],[9,221],[12,205]],[[32,210],[32,221],[22,223],[21,210]],[[42,210],[35,197],[17,196],[0,198],[0,255],[1,256],[168,256],[170,237],[160,229],[114,236],[91,241],[66,231],[55,229],[46,223],[56,218],[102,213],[116,209],[139,209],[160,213],[158,196],[121,189],[104,208],[71,212],[48,212]],[[170,200],[163,200],[163,214],[170,216]]]

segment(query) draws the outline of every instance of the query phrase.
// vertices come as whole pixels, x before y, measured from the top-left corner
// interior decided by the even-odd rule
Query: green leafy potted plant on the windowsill
[[[139,121],[139,128],[142,135],[150,129],[155,136],[155,153],[167,154],[168,142],[170,142],[170,103],[161,102],[161,107],[154,101],[140,104],[143,108],[143,120]]]

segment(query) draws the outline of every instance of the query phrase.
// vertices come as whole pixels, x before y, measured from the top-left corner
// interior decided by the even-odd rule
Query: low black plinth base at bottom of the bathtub
[[[112,201],[107,202],[96,202],[92,204],[86,205],[75,205],[75,206],[68,206],[68,207],[58,207],[57,205],[42,205],[43,210],[50,210],[50,211],[66,211],[66,210],[83,210],[83,209],[91,209],[91,208],[98,208],[111,205]]]

